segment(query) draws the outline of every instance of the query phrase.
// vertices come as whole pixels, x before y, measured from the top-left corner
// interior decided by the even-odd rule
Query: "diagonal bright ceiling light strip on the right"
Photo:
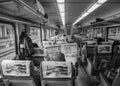
[[[83,13],[74,23],[73,25],[77,24],[79,21],[81,21],[83,18],[85,18],[87,15],[89,15],[91,12],[96,10],[98,7],[100,7],[103,3],[105,3],[107,0],[98,0],[96,3],[94,3],[87,11]]]

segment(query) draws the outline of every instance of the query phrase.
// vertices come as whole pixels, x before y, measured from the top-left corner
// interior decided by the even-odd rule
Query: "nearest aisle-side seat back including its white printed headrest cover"
[[[72,82],[71,62],[43,61],[41,63],[42,86],[68,86]],[[68,83],[70,82],[70,83]],[[71,85],[70,85],[71,86]]]

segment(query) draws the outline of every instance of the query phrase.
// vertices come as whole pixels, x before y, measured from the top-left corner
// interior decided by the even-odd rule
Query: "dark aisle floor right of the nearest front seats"
[[[87,75],[83,67],[78,68],[78,76],[75,80],[75,86],[97,86],[91,80],[91,77]]]

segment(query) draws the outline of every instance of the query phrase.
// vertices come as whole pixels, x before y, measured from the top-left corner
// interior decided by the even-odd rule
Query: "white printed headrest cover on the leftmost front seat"
[[[1,66],[4,76],[30,76],[30,61],[3,60]]]

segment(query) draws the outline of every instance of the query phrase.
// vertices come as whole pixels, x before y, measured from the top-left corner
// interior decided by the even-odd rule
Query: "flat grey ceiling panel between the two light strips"
[[[66,24],[74,21],[96,0],[67,0],[66,1]]]

